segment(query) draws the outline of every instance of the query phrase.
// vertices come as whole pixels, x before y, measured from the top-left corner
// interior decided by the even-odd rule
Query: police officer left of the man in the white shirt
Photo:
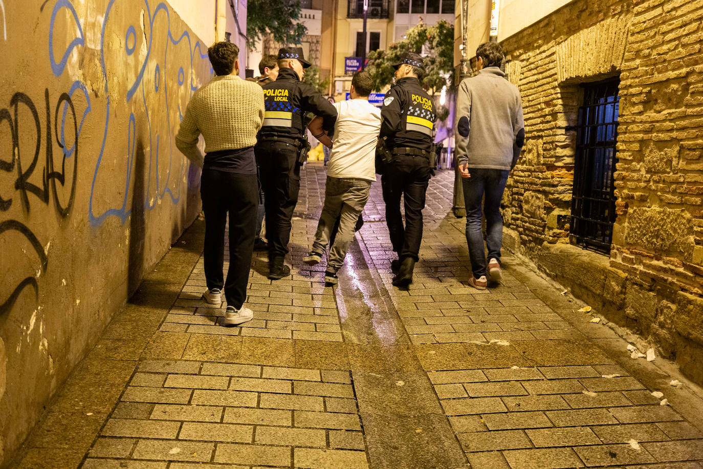
[[[300,167],[307,159],[305,115],[322,117],[322,127],[328,132],[337,120],[335,107],[319,91],[300,81],[310,65],[302,48],[283,47],[278,51],[278,78],[263,86],[266,111],[254,152],[265,195],[272,280],[290,275],[290,267],[283,261],[288,254],[290,221],[298,201]]]

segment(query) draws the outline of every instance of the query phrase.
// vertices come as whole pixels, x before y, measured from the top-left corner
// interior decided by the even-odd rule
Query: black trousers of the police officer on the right
[[[399,259],[413,257],[418,261],[423,240],[425,193],[432,176],[430,160],[415,155],[395,155],[394,158],[394,162],[384,165],[381,176],[386,223],[393,250]],[[401,195],[405,205],[405,226],[400,212]]]

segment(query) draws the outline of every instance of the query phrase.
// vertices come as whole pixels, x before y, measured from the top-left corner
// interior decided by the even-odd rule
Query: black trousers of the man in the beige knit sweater
[[[203,169],[200,180],[205,212],[205,279],[207,288],[224,290],[228,306],[240,309],[247,299],[254,250],[259,184],[256,174]],[[224,230],[229,214],[229,269],[224,281]]]

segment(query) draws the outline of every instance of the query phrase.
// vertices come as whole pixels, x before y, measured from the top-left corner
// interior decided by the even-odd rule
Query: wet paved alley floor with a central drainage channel
[[[195,221],[77,366],[18,467],[703,469],[701,390],[673,366],[631,359],[591,322],[598,311],[508,252],[500,285],[467,286],[453,171],[427,191],[409,290],[391,285],[380,181],[339,285],[325,287],[324,261],[302,262],[325,170],[311,163],[301,178],[292,276],[269,280],[254,253],[254,319],[224,328],[225,305],[200,300]]]

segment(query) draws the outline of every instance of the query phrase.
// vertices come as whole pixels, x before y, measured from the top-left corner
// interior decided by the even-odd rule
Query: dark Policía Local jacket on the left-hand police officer
[[[291,68],[281,68],[276,81],[262,86],[266,111],[264,125],[260,131],[263,139],[267,135],[278,138],[302,139],[305,133],[304,117],[307,113],[323,118],[322,128],[332,131],[337,121],[337,110],[327,99],[307,83],[300,81]]]

